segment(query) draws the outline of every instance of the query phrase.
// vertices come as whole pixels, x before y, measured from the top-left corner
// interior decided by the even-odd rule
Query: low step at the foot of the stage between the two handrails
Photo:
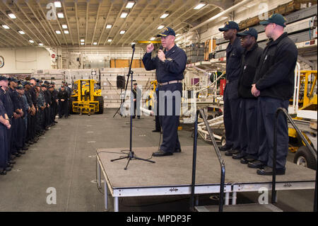
[[[218,205],[201,205],[194,207],[198,212],[218,212]],[[273,204],[237,204],[223,205],[223,212],[283,212]]]

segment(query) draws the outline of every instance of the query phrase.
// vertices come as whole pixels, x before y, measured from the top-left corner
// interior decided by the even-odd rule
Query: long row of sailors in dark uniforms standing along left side
[[[16,164],[16,157],[25,154],[57,123],[57,114],[68,118],[71,89],[67,84],[57,90],[54,82],[3,76],[0,86],[0,175],[6,175]]]

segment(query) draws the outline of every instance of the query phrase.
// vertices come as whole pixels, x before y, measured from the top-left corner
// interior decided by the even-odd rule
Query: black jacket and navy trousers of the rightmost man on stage
[[[260,91],[258,98],[259,161],[273,167],[273,128],[277,108],[288,111],[289,99],[294,90],[294,69],[298,50],[283,33],[271,40],[261,55],[254,84]],[[285,169],[288,154],[288,124],[285,116],[278,117],[276,169]]]

